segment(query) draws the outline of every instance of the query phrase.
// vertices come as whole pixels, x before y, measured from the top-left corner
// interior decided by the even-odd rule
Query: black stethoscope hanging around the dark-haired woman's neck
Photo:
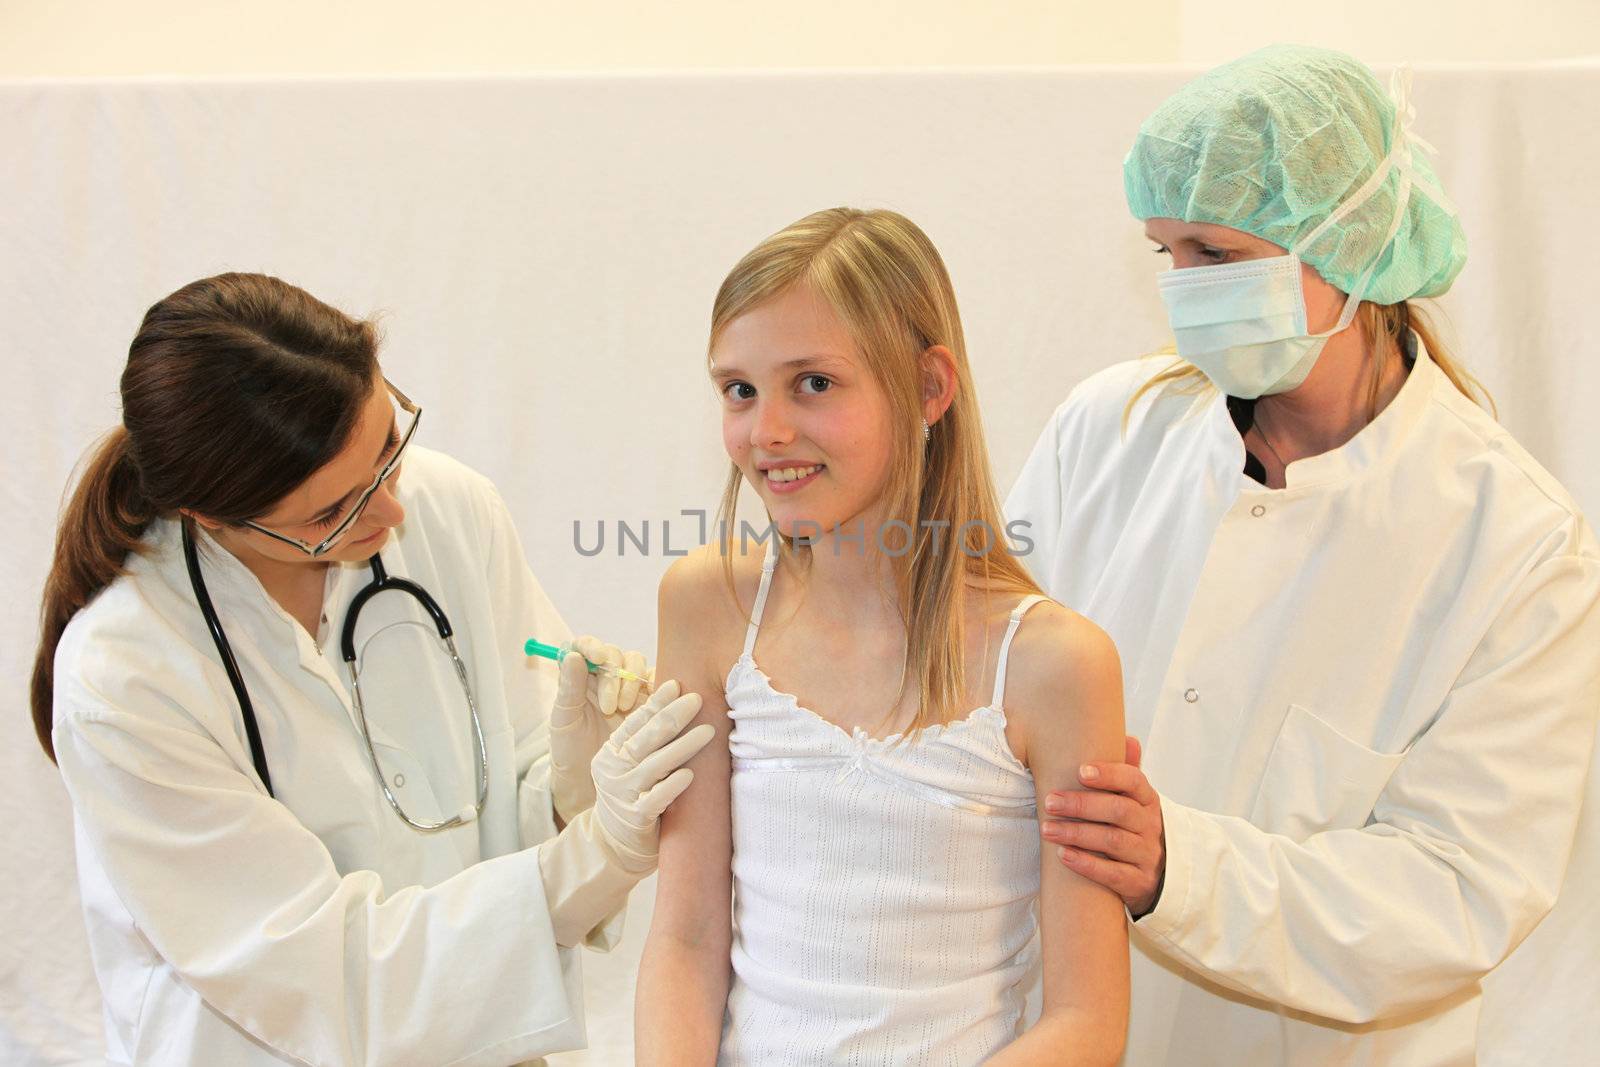
[[[216,651],[222,657],[222,670],[227,672],[227,681],[234,686],[234,696],[238,697],[238,710],[245,717],[245,736],[250,739],[250,758],[256,765],[256,774],[261,776],[261,784],[267,787],[267,795],[275,798],[277,793],[272,792],[272,774],[267,773],[267,750],[261,744],[261,728],[256,725],[256,709],[250,702],[250,691],[245,689],[245,677],[238,670],[238,661],[234,659],[234,649],[227,643],[227,635],[222,632],[222,622],[216,617],[216,608],[211,606],[211,593],[206,590],[205,577],[200,574],[200,552],[195,547],[195,539],[189,530],[189,523],[182,523],[182,528],[184,563],[189,566],[189,584],[194,587],[195,601],[200,605],[200,614],[205,616],[206,629],[211,630],[211,641],[216,645]],[[339,654],[344,657],[344,665],[350,672],[350,691],[354,694],[352,702],[355,704],[355,717],[362,726],[362,739],[366,742],[366,755],[373,763],[373,773],[378,776],[378,785],[384,790],[384,797],[389,800],[389,806],[395,809],[395,814],[405,819],[405,822],[416,830],[448,830],[451,827],[472,822],[483,814],[483,805],[488,800],[490,753],[488,745],[483,741],[483,723],[478,720],[478,705],[477,701],[472,699],[472,686],[467,681],[467,665],[461,662],[461,654],[456,651],[456,638],[450,627],[450,619],[445,617],[445,609],[438,606],[438,601],[434,600],[426,589],[406,577],[390,577],[384,569],[382,558],[376,552],[370,560],[366,560],[366,565],[373,571],[373,581],[363,585],[350,600],[350,608],[344,616],[344,627],[339,633]],[[461,680],[461,691],[466,694],[467,710],[472,713],[472,736],[478,745],[478,800],[475,805],[464,806],[461,811],[442,822],[422,822],[405,813],[400,801],[389,789],[389,781],[384,777],[384,768],[378,763],[378,750],[373,747],[373,734],[366,728],[366,709],[362,704],[362,677],[355,656],[355,619],[368,600],[390,589],[414,597],[434,621],[434,629],[438,630],[438,638],[443,641],[445,651],[450,653],[450,659],[456,665],[456,678]]]

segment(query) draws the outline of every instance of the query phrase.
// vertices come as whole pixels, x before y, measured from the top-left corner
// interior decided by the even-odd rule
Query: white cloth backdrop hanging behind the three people
[[[424,442],[499,483],[574,629],[653,649],[661,523],[691,541],[680,510],[712,509],[722,485],[704,339],[738,256],[821,206],[917,219],[962,299],[1003,491],[1075,381],[1165,339],[1120,163],[1190,74],[0,83],[0,1061],[99,1048],[70,816],[26,681],[62,486],[117,419],[150,302],[237,269],[382,312],[384,368],[426,405]],[[1448,333],[1502,421],[1600,514],[1584,230],[1600,62],[1421,67],[1416,102],[1472,250]],[[611,536],[582,557],[574,520],[586,542],[600,522],[650,520],[654,555],[619,558]],[[1566,963],[1525,952],[1494,990],[1507,1061],[1563,1062],[1539,1051],[1563,1040],[1552,968],[1592,989],[1576,968],[1600,945],[1597,825],[1592,809],[1589,899],[1563,897],[1534,936]],[[648,891],[635,901],[627,945],[590,957],[589,1062],[627,1061]]]

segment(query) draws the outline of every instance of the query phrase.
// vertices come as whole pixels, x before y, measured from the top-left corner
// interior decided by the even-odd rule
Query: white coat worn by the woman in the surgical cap
[[[1285,490],[1242,474],[1216,390],[1142,398],[1123,435],[1168,363],[1080,384],[1006,506],[1115,640],[1162,793],[1126,1062],[1472,1064],[1478,979],[1573,848],[1600,545],[1426,352]]]

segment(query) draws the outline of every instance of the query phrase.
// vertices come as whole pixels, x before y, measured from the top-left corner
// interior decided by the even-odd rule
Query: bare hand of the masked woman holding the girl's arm
[[[1045,798],[1040,835],[1059,845],[1067,869],[1122,897],[1133,918],[1162,899],[1166,835],[1162,798],[1139,769],[1139,741],[1128,737],[1126,763],[1085,763],[1083,790]]]

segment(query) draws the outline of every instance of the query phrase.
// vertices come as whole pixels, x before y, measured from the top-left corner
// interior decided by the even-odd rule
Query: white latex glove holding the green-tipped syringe
[[[579,654],[562,657],[555,704],[550,707],[550,797],[563,822],[571,822],[594,805],[595,784],[589,765],[643,696],[637,681],[589,673],[584,659],[645,673],[643,653],[624,653],[598,637],[579,637],[573,649]]]

